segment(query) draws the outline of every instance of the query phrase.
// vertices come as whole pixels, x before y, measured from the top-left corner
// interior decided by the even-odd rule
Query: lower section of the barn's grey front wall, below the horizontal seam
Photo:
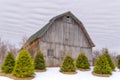
[[[55,44],[50,42],[40,42],[40,49],[44,53],[45,61],[47,63],[47,66],[60,66],[64,57],[66,55],[72,56],[74,60],[78,57],[79,53],[85,52],[86,56],[88,57],[88,60],[90,61],[90,64],[92,64],[92,48],[84,49],[80,47],[72,47],[72,46],[63,46],[61,44]],[[54,56],[47,56],[47,50],[53,49],[54,50]]]

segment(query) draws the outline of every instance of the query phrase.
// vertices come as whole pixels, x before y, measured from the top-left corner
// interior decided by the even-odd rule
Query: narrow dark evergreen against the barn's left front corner
[[[43,56],[43,53],[40,50],[38,50],[36,55],[35,55],[34,65],[35,65],[35,69],[39,69],[39,70],[45,70],[46,69],[44,56]]]

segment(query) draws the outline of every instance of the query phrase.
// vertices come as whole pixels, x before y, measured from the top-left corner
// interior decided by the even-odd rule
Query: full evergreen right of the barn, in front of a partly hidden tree
[[[98,57],[95,63],[94,72],[97,74],[111,74],[112,69],[104,54]]]

